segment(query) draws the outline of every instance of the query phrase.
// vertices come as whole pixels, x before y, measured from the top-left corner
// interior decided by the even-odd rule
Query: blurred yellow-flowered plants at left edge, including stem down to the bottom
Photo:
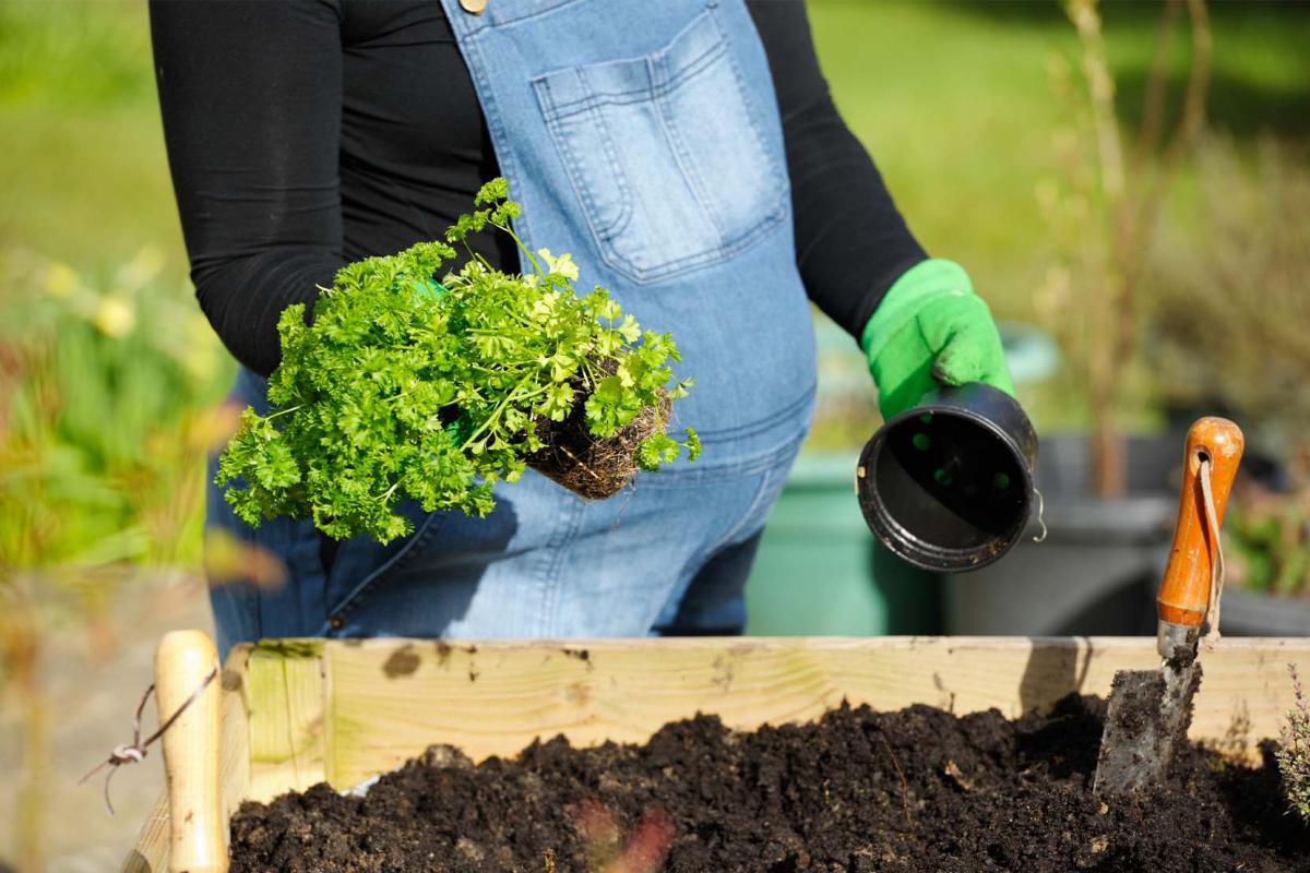
[[[92,279],[0,253],[0,678],[25,720],[16,857],[41,866],[54,713],[41,681],[55,635],[105,660],[128,628],[118,601],[194,577],[204,455],[231,416],[208,325],[160,281],[155,249]],[[220,390],[220,389],[219,389]],[[130,614],[131,611],[128,611]]]

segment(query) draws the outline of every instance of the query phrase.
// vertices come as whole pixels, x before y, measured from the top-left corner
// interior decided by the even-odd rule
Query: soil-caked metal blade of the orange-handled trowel
[[[1128,794],[1161,785],[1174,750],[1187,742],[1201,665],[1166,661],[1159,670],[1120,670],[1110,690],[1094,791]]]

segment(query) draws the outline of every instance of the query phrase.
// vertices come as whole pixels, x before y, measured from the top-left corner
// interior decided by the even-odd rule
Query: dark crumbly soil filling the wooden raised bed
[[[326,785],[232,823],[234,873],[288,870],[1310,870],[1277,770],[1188,747],[1169,791],[1093,797],[1104,704],[955,717],[842,707],[727,732],[700,716],[645,746],[534,743],[477,767],[449,747],[367,797]],[[621,861],[634,861],[624,866]]]

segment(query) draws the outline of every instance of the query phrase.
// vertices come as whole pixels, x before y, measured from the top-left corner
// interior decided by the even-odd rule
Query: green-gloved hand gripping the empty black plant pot
[[[907,270],[865,325],[859,344],[883,420],[938,385],[985,382],[1014,394],[992,312],[952,260],[933,258]]]

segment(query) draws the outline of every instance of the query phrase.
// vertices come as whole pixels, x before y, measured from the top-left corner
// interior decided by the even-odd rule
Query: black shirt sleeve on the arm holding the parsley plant
[[[338,9],[322,0],[151,0],[164,137],[200,308],[267,376],[278,318],[342,257]]]

